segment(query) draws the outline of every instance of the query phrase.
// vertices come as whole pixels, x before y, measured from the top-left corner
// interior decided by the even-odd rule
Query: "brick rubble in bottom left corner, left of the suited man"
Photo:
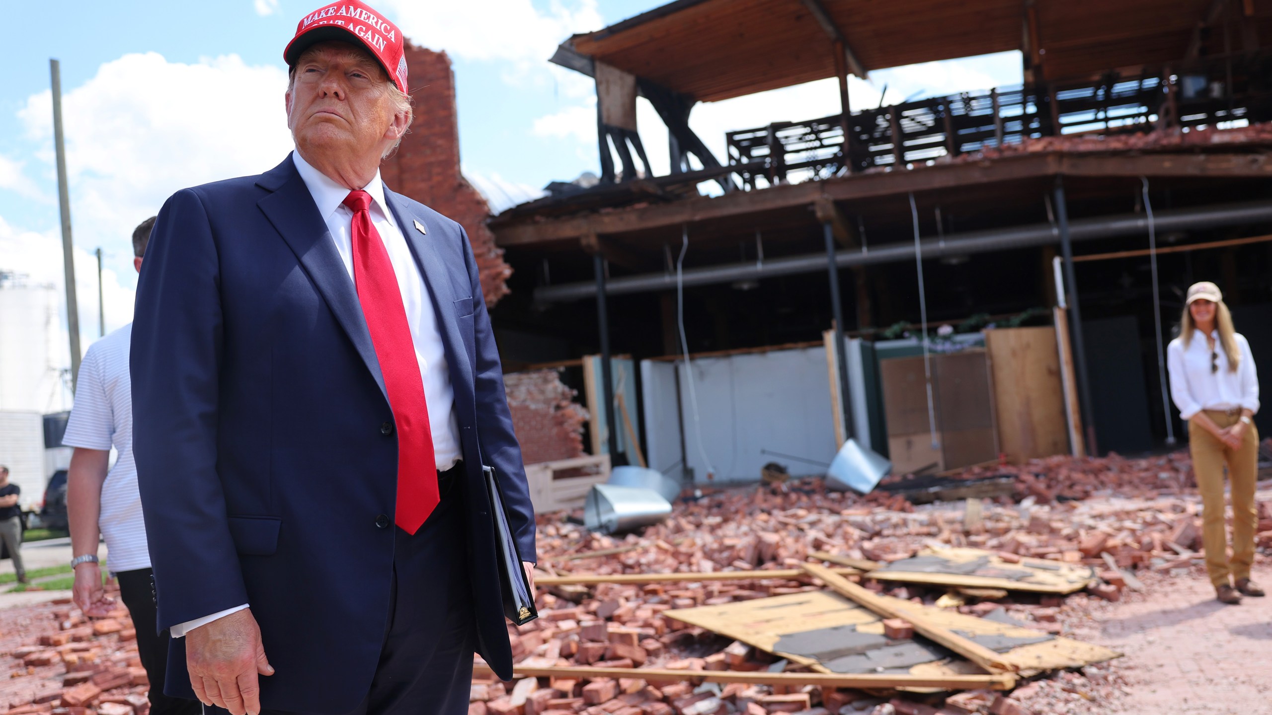
[[[127,609],[90,621],[69,603],[22,609],[15,622],[0,623],[10,662],[9,683],[0,684],[8,715],[146,715],[150,686]]]

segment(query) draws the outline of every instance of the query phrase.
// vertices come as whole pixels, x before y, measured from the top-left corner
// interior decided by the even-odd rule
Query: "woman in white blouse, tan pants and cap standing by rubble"
[[[1224,603],[1240,603],[1243,594],[1263,595],[1263,589],[1250,581],[1259,444],[1250,417],[1259,411],[1259,380],[1250,344],[1233,330],[1233,316],[1219,286],[1198,282],[1188,289],[1179,337],[1170,341],[1166,354],[1170,397],[1179,416],[1188,421],[1210,580]],[[1231,561],[1224,523],[1225,464],[1233,492]]]

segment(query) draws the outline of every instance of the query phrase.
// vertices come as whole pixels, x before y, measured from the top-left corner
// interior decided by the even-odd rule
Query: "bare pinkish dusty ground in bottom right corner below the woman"
[[[1272,566],[1253,578],[1272,587]],[[1225,606],[1197,569],[1094,620],[1093,640],[1126,654],[1118,712],[1272,714],[1272,597]]]

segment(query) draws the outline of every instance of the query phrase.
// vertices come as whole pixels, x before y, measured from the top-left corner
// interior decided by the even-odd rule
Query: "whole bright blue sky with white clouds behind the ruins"
[[[377,0],[420,45],[445,50],[459,102],[464,173],[496,209],[552,179],[597,170],[590,80],[547,62],[572,32],[599,29],[663,0]],[[0,270],[61,284],[48,59],[61,61],[85,345],[95,338],[92,251],[106,252],[108,328],[131,319],[128,234],[184,186],[258,173],[290,149],[282,47],[315,0],[182,3],[67,0],[8,8],[9,74],[0,92]],[[1020,81],[1016,53],[915,65],[852,79],[855,104]],[[695,109],[717,155],[724,132],[838,111],[832,80]],[[656,173],[665,128],[641,101]],[[427,107],[417,107],[426,112]]]

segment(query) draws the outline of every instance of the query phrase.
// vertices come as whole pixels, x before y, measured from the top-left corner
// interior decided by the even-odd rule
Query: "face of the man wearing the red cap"
[[[406,130],[406,117],[370,55],[347,42],[319,42],[296,61],[287,127],[307,156],[375,158]]]

